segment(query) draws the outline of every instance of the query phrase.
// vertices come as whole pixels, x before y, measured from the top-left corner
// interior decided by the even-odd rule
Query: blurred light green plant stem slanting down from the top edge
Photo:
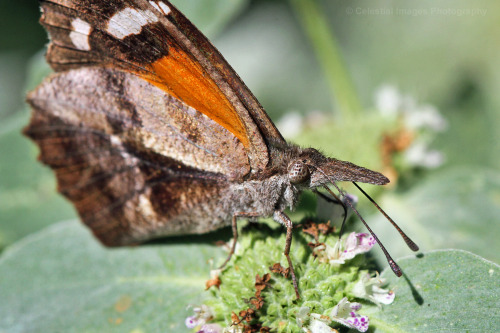
[[[289,0],[314,48],[342,118],[359,116],[361,104],[347,73],[331,27],[316,0]]]

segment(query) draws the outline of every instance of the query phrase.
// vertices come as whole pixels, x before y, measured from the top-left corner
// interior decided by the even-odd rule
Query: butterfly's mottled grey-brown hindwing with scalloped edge
[[[107,245],[220,227],[221,191],[250,168],[231,132],[132,74],[55,74],[28,102],[25,134]]]

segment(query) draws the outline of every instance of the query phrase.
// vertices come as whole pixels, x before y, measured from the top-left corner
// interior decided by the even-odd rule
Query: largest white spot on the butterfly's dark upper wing
[[[139,34],[144,26],[154,22],[158,22],[158,17],[150,10],[125,8],[109,19],[107,32],[118,39],[123,39]]]

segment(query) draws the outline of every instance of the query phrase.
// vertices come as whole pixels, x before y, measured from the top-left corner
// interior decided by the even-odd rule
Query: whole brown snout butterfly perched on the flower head
[[[168,1],[40,3],[56,73],[29,93],[33,115],[24,133],[103,244],[232,225],[234,251],[238,218],[272,216],[286,227],[284,254],[299,297],[284,209],[303,190],[389,182],[286,142],[221,54]]]

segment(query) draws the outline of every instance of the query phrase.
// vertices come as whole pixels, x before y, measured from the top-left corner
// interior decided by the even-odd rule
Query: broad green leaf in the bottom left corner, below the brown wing
[[[206,244],[106,249],[76,222],[0,257],[0,332],[179,332],[209,278]]]

